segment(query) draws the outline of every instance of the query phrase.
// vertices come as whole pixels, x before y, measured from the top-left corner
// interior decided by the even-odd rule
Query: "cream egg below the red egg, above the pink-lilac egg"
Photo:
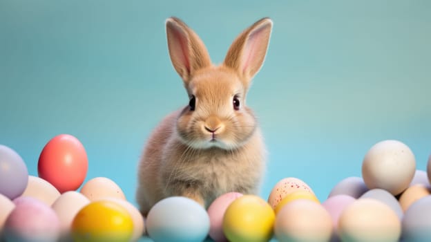
[[[37,176],[28,176],[28,185],[22,196],[37,198],[46,205],[51,206],[59,198],[60,193],[46,180]]]

